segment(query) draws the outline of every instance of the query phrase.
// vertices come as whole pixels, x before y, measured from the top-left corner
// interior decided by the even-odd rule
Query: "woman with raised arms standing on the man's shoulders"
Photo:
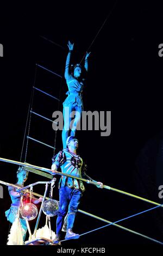
[[[68,92],[66,93],[68,96],[63,103],[63,115],[64,115],[64,129],[62,130],[62,143],[63,148],[66,148],[66,139],[68,136],[75,136],[77,125],[80,121],[83,111],[83,88],[85,85],[84,74],[88,71],[88,59],[90,56],[90,52],[86,53],[85,56],[85,64],[82,67],[80,64],[76,64],[71,69],[71,54],[73,51],[73,45],[70,41],[68,41],[69,52],[66,59],[66,67],[65,67],[65,79],[68,86]],[[72,119],[68,113],[72,111],[75,112],[76,116]],[[68,115],[68,117],[66,117]],[[70,127],[71,124],[71,127]]]

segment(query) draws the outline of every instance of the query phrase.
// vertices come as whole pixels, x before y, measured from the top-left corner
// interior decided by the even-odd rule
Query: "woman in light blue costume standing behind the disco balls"
[[[24,170],[24,168],[21,166],[17,170],[17,183],[15,184],[18,187],[24,187],[24,182],[28,178],[28,172]],[[15,219],[18,217],[18,208],[20,207],[20,200],[21,196],[20,193],[16,192],[15,187],[9,186],[9,194],[11,197],[11,207],[9,210],[5,211],[5,216],[7,217],[7,220],[11,223],[15,221]],[[23,197],[23,203],[29,203],[29,194],[26,193],[26,197]],[[42,201],[42,198],[39,198],[38,200],[32,199],[32,203],[39,204]],[[26,233],[27,233],[27,224],[26,220],[24,220],[20,216],[20,223],[22,228],[22,234],[23,234],[23,241],[26,239]]]

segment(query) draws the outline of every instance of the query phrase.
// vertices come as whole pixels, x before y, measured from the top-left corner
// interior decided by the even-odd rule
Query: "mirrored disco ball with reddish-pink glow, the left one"
[[[22,217],[26,221],[34,220],[34,218],[36,218],[36,216],[38,214],[38,210],[36,208],[36,205],[31,204],[31,203],[24,204],[21,207],[20,212],[21,212]]]

